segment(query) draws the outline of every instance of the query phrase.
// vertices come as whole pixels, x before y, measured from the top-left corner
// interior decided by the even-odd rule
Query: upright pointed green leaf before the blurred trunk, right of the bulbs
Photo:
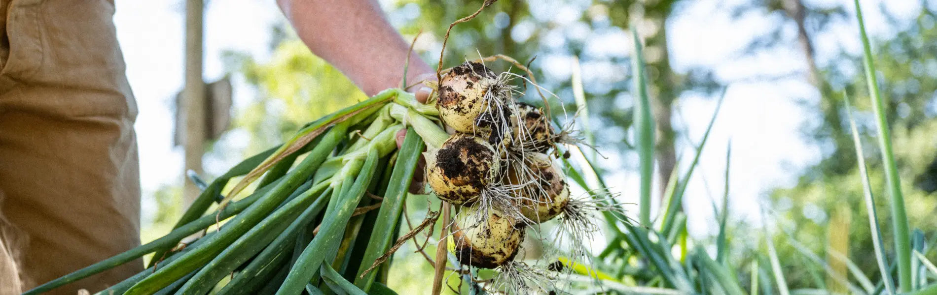
[[[654,118],[650,112],[650,99],[647,97],[647,84],[645,83],[644,54],[641,48],[641,38],[632,26],[632,39],[634,52],[632,56],[632,80],[634,90],[634,137],[638,149],[638,173],[641,176],[641,192],[639,194],[641,211],[639,220],[644,226],[650,226],[650,185],[654,179]]]

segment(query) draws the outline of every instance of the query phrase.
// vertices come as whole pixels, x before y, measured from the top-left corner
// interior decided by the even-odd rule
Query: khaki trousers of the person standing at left
[[[108,0],[0,0],[0,294],[140,245],[137,105]],[[107,288],[140,260],[51,292]]]

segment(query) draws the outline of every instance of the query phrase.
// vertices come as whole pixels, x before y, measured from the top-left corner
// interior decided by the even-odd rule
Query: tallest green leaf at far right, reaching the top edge
[[[898,176],[898,165],[891,147],[891,133],[888,131],[888,120],[885,118],[885,103],[879,92],[878,78],[875,77],[875,63],[872,62],[872,52],[869,45],[869,36],[866,35],[866,26],[862,20],[862,8],[859,1],[855,3],[855,19],[859,21],[859,36],[862,38],[862,63],[865,65],[866,82],[869,84],[869,97],[872,110],[875,113],[875,125],[878,129],[879,148],[882,150],[882,162],[885,164],[885,182],[891,195],[892,226],[895,231],[895,254],[898,260],[899,291],[911,291],[911,232],[909,230],[908,216],[904,208],[904,195],[901,193],[901,182]]]

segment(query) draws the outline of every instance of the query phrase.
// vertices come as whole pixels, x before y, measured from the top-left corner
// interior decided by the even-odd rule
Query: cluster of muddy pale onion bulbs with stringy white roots
[[[461,207],[449,246],[461,264],[498,270],[496,288],[548,291],[546,270],[514,260],[525,236],[544,239],[525,231],[560,218],[563,236],[585,239],[597,231],[593,212],[617,208],[571,199],[564,168],[551,154],[577,142],[572,125],[557,132],[543,109],[515,101],[524,93],[508,84],[512,77],[467,62],[441,78],[439,119],[454,134],[428,152],[426,175],[439,199]],[[573,256],[586,253],[582,242],[570,243]]]

